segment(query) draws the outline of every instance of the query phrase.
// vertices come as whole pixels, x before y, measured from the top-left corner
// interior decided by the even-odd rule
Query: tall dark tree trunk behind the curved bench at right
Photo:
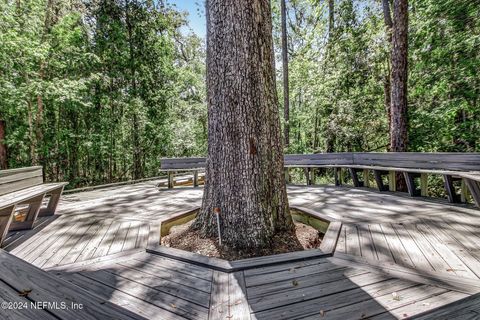
[[[408,0],[393,2],[390,151],[407,151]],[[397,174],[397,190],[406,191],[403,175]]]

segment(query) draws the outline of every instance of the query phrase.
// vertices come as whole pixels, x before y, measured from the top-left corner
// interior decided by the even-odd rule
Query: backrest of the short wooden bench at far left
[[[42,167],[0,170],[0,195],[43,183]]]

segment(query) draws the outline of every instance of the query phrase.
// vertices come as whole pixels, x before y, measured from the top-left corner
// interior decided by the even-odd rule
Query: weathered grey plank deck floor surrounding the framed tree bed
[[[480,318],[477,209],[292,186],[292,205],[343,222],[333,257],[228,274],[145,252],[159,219],[201,202],[201,188],[155,185],[65,195],[57,215],[10,234],[5,249],[145,319]]]

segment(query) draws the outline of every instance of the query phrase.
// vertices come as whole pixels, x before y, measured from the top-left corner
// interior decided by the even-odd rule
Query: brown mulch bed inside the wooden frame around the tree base
[[[259,252],[228,251],[219,246],[217,239],[202,238],[198,231],[190,228],[193,221],[174,226],[170,233],[162,237],[162,245],[198,253],[208,257],[215,257],[225,260],[238,260],[259,256],[267,256],[305,249],[318,248],[323,234],[320,234],[315,228],[300,223],[295,223],[295,235],[277,234],[273,239],[273,247]]]

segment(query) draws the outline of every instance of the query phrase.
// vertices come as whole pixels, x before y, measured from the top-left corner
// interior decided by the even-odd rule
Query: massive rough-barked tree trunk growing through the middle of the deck
[[[193,224],[230,249],[268,247],[293,232],[275,87],[269,0],[207,0],[208,156]]]

